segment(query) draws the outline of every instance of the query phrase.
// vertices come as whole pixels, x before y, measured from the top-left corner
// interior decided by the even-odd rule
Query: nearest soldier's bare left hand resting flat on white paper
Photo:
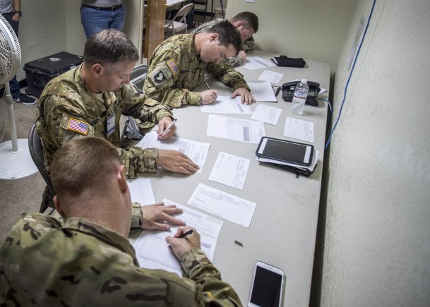
[[[155,203],[153,205],[142,206],[143,224],[141,227],[143,229],[169,230],[169,224],[184,226],[184,222],[172,217],[172,215],[179,213],[182,213],[182,209],[179,209],[176,205]]]

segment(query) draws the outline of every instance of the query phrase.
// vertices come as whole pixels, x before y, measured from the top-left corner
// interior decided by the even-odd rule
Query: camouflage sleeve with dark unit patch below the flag
[[[181,54],[166,47],[158,47],[148,69],[145,85],[145,96],[169,107],[181,107],[182,104],[200,104],[201,95],[186,88],[175,88],[179,78]]]

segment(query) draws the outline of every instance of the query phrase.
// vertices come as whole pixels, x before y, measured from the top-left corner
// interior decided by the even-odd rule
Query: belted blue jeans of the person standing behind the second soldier
[[[80,6],[80,21],[85,35],[91,35],[104,29],[117,29],[122,31],[126,21],[124,4],[117,11],[99,11],[95,8]]]

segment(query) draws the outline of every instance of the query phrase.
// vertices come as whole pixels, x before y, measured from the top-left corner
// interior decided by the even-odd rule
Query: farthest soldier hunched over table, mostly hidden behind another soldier
[[[224,19],[216,18],[210,20],[208,23],[194,29],[191,33],[201,33],[207,31],[215,23],[219,23]],[[256,43],[253,40],[253,36],[258,31],[258,17],[256,14],[251,12],[242,12],[229,19],[229,22],[234,25],[240,32],[240,38],[242,41],[241,50],[237,56],[232,56],[227,59],[229,64],[232,66],[238,66],[244,63],[246,59],[246,51],[256,49]]]

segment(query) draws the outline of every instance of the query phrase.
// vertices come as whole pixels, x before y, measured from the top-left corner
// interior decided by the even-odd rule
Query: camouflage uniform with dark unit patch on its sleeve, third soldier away
[[[200,104],[200,93],[192,90],[203,82],[206,72],[234,90],[249,90],[241,73],[229,64],[201,61],[194,50],[194,34],[181,34],[169,37],[155,49],[143,86],[145,96],[168,107]]]

